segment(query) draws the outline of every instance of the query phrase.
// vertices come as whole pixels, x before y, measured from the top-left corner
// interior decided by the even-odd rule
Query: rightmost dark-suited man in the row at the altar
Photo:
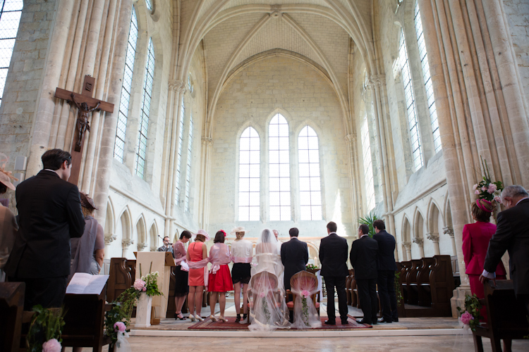
[[[386,232],[384,220],[373,222],[375,236],[373,239],[378,244],[377,256],[377,283],[380,303],[382,303],[382,318],[378,322],[398,322],[395,294],[395,237]]]

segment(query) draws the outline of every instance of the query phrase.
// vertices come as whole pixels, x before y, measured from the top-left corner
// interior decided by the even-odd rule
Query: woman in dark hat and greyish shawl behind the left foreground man
[[[79,195],[81,210],[85,215],[85,232],[80,238],[71,239],[72,259],[69,279],[73,277],[75,272],[98,275],[103,266],[104,258],[103,227],[93,217],[97,206],[87,194],[79,192]]]

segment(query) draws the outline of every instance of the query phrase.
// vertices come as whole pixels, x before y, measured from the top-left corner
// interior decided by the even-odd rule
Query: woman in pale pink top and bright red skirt
[[[217,296],[219,297],[220,315],[219,320],[226,322],[224,318],[224,309],[226,308],[226,292],[233,291],[233,284],[231,282],[230,270],[228,264],[231,262],[231,253],[229,246],[224,244],[226,232],[220,230],[215,234],[214,244],[209,250],[209,263],[212,264],[211,272],[209,273],[207,291],[209,294],[209,306],[211,307],[211,315],[209,318],[217,321],[215,317],[215,305],[217,305]]]

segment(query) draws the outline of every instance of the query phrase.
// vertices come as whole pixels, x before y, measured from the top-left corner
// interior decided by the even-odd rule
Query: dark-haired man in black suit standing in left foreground
[[[67,182],[71,159],[61,149],[46,151],[44,170],[16,189],[20,228],[6,274],[10,282],[25,282],[25,310],[36,304],[60,307],[66,294],[70,239],[85,230],[79,190]]]

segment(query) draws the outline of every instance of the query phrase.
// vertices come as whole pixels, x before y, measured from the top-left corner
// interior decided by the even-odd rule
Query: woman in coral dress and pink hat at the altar
[[[209,240],[209,234],[204,230],[198,230],[195,241],[189,245],[186,258],[189,265],[189,294],[188,308],[191,321],[200,320],[202,310],[202,293],[205,286],[205,271],[207,270],[207,248],[205,241]],[[195,313],[196,309],[196,314]]]

